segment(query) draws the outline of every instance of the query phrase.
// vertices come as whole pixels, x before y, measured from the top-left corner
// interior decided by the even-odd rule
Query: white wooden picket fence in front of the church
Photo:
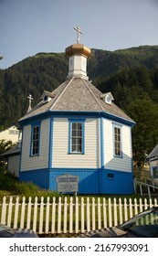
[[[33,229],[38,234],[84,233],[120,225],[142,210],[158,206],[157,199],[87,197],[3,198],[1,223],[14,229]]]

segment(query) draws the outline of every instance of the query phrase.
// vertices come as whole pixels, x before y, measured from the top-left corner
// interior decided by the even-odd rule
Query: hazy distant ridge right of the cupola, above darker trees
[[[88,64],[90,79],[107,77],[122,68],[142,65],[147,69],[158,66],[158,46],[143,46],[115,51],[92,49]]]

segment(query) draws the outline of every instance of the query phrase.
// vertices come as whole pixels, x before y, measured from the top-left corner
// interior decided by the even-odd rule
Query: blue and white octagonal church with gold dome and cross
[[[79,194],[132,194],[133,120],[89,80],[90,48],[66,48],[67,79],[19,120],[19,179],[57,190],[57,177],[79,176]]]

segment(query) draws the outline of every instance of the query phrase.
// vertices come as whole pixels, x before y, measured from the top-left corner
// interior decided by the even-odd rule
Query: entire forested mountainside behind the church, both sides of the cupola
[[[64,53],[38,53],[9,69],[1,69],[0,125],[16,123],[26,113],[30,93],[36,105],[43,91],[53,91],[67,73]],[[124,110],[140,95],[158,102],[158,46],[115,51],[91,49],[88,75],[101,91],[111,91],[115,103]]]

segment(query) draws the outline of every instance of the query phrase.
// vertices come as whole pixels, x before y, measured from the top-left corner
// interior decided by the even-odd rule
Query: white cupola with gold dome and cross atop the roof
[[[68,58],[68,79],[72,77],[83,78],[88,80],[87,76],[87,59],[90,58],[90,48],[79,44],[79,33],[82,34],[79,27],[74,27],[78,31],[77,44],[66,48]]]

